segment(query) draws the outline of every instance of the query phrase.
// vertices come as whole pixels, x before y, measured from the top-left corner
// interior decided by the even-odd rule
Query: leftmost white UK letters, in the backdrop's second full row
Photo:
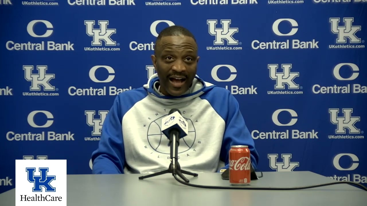
[[[55,74],[46,74],[47,66],[37,65],[38,73],[32,73],[33,65],[24,65],[24,78],[31,82],[30,91],[55,91],[55,87],[50,84],[50,80],[55,78]]]

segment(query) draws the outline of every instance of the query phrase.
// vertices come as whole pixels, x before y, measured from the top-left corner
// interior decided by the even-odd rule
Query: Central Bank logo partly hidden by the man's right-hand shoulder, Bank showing
[[[225,72],[224,72],[225,71]],[[223,74],[224,73],[224,74]],[[222,75],[219,75],[222,74]],[[229,74],[229,77],[228,77]],[[217,82],[231,82],[237,77],[237,69],[232,65],[217,65],[211,70],[211,77]],[[257,94],[257,87],[239,87],[237,85],[225,85],[233,95],[252,95]]]

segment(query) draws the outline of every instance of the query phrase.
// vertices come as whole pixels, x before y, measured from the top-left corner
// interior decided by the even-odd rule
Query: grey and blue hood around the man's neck
[[[143,85],[143,88],[146,89],[150,98],[165,105],[173,105],[192,100],[216,87],[213,84],[205,82],[196,75],[194,80],[192,81],[192,86],[183,95],[165,96],[162,93],[158,92],[158,89],[156,89],[155,86],[157,83],[159,83],[159,78],[158,74],[155,73],[149,78],[147,84]]]

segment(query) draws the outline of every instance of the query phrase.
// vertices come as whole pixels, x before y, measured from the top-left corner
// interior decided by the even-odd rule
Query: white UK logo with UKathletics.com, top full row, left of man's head
[[[84,21],[86,33],[92,37],[92,47],[84,47],[85,51],[120,51],[120,43],[112,39],[112,34],[116,34],[116,29],[109,27],[108,20],[98,20],[98,25],[94,20]],[[105,46],[105,47],[101,47]]]

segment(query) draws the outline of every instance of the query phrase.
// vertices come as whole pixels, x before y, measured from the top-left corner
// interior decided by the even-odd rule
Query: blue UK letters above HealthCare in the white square
[[[32,192],[56,192],[56,188],[50,184],[52,180],[56,180],[56,176],[48,175],[48,168],[39,168],[40,176],[34,175],[36,168],[26,168],[28,173],[28,181],[33,183]]]

